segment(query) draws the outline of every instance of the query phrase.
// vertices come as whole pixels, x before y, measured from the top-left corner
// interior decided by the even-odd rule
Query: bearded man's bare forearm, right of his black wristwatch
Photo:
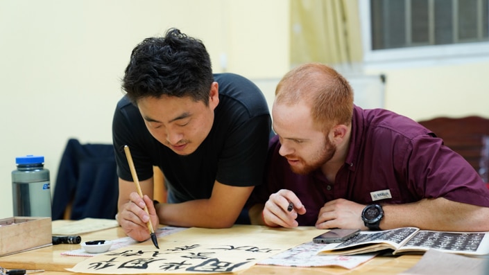
[[[419,227],[437,231],[489,231],[489,208],[452,202],[448,199],[422,199],[412,204],[384,205],[380,228]]]

